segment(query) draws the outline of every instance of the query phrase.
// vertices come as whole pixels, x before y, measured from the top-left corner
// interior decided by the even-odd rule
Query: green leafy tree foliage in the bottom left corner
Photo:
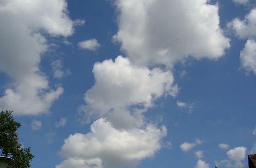
[[[8,168],[29,168],[33,156],[30,148],[23,148],[18,142],[17,128],[21,125],[11,115],[12,111],[1,111],[0,114],[0,155],[16,160]]]

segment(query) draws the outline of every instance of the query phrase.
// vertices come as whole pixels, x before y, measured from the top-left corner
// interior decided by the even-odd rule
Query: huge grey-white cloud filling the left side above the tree
[[[39,65],[47,51],[44,34],[67,37],[74,33],[65,0],[8,0],[0,3],[0,71],[11,79],[0,98],[1,109],[14,115],[49,111],[63,93],[51,89]]]

